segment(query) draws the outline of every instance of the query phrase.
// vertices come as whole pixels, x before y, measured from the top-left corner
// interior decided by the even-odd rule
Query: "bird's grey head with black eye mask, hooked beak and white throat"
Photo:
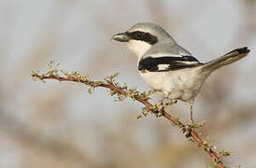
[[[128,48],[133,50],[137,57],[141,57],[152,46],[161,42],[175,43],[158,24],[139,22],[124,33],[113,35],[113,40],[127,42]]]

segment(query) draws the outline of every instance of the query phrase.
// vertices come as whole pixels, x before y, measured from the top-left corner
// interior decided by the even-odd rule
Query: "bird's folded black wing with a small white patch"
[[[181,57],[147,57],[138,63],[138,70],[148,70],[149,72],[164,72],[171,70],[184,69],[197,66],[200,63],[192,56]]]

